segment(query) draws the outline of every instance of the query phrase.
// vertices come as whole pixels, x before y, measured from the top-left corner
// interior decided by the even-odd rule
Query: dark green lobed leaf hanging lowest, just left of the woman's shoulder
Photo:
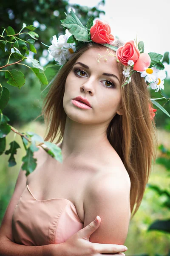
[[[24,162],[22,169],[26,170],[26,176],[28,176],[37,166],[37,159],[33,157],[33,151],[30,147],[26,149],[26,155],[22,158],[22,161]]]

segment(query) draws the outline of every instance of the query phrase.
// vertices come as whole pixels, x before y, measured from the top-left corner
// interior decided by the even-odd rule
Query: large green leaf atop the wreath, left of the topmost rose
[[[88,42],[88,31],[85,29],[79,18],[71,9],[71,12],[66,16],[65,20],[60,20],[62,26],[69,29],[69,32],[74,35],[78,41]]]

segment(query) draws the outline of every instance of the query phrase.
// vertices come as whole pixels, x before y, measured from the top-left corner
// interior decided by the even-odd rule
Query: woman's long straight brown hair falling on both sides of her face
[[[114,46],[122,45],[116,41]],[[45,141],[59,143],[63,137],[66,122],[66,113],[63,108],[63,96],[65,81],[77,59],[91,47],[102,48],[100,44],[85,44],[73,57],[59,70],[48,94],[46,95],[42,114],[46,122]],[[123,66],[118,63],[123,84],[125,77],[122,75]],[[133,73],[131,82],[121,88],[123,115],[116,115],[107,128],[107,137],[113,148],[119,154],[131,181],[130,208],[133,215],[139,208],[146,183],[150,176],[152,160],[155,162],[157,134],[154,119],[150,119],[148,105],[153,107],[150,101],[150,93],[144,78],[140,73]],[[117,136],[114,136],[117,134]],[[40,143],[39,145],[42,145]]]

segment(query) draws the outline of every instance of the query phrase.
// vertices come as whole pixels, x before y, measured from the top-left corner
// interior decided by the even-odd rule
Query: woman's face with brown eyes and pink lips
[[[98,54],[106,55],[106,49],[88,49],[75,62],[65,82],[63,107],[75,122],[109,125],[116,113],[122,114],[121,75],[115,57],[105,56],[107,61],[101,58],[97,62]],[[87,99],[91,108],[74,105],[77,96]]]

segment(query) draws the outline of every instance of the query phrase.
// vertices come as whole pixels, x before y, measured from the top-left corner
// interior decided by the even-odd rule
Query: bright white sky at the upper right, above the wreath
[[[100,0],[68,0],[81,6],[96,6]],[[144,42],[144,52],[164,54],[170,52],[170,1],[169,0],[105,0],[105,5],[98,9],[105,15],[111,32],[123,41]],[[170,65],[165,64],[170,76]]]

